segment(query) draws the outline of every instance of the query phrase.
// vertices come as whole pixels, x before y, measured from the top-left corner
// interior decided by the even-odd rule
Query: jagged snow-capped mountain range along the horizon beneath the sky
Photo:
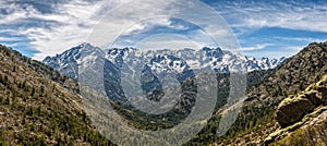
[[[77,78],[77,70],[84,58],[95,58],[101,48],[90,44],[82,44],[55,57],[47,57],[44,63],[60,71],[61,73]],[[286,58],[255,59],[243,57],[220,48],[204,47],[199,50],[184,48],[181,50],[140,50],[135,48],[105,49],[111,63],[118,68],[123,64],[147,65],[153,73],[162,74],[167,72],[183,73],[187,71],[211,70],[217,73],[229,73],[235,64],[243,64],[246,72],[274,69],[282,63]]]

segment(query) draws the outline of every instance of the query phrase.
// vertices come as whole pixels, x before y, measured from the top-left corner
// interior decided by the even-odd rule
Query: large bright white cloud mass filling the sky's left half
[[[65,49],[89,40],[95,45],[106,42],[108,38],[113,38],[122,34],[110,33],[111,29],[121,29],[124,35],[147,32],[155,26],[165,26],[172,29],[186,29],[186,26],[175,24],[170,17],[159,17],[147,20],[148,10],[160,14],[168,9],[172,1],[145,1],[143,4],[119,8],[120,4],[130,0],[72,0],[57,2],[21,2],[19,0],[0,2],[0,27],[11,31],[9,34],[0,35],[2,38],[11,37],[12,32],[24,36],[31,49],[36,48],[38,53],[33,54],[34,59],[41,60],[46,56],[60,53]],[[142,1],[141,1],[142,2]],[[2,7],[1,7],[2,5]],[[41,8],[39,8],[41,5]],[[44,12],[41,9],[49,9]],[[173,8],[172,8],[173,9]],[[114,20],[106,20],[109,12],[116,11],[112,15]],[[178,10],[177,10],[178,11]],[[134,14],[136,13],[136,14]],[[155,13],[155,14],[156,14]],[[136,16],[136,17],[135,17]],[[138,23],[137,19],[147,20]],[[88,39],[95,26],[105,24],[104,32],[97,33],[97,41]],[[135,24],[137,23],[137,24]],[[134,25],[128,25],[134,24]],[[109,32],[108,32],[109,31]],[[102,37],[104,34],[106,37]],[[92,36],[90,36],[92,37]],[[21,41],[14,37],[0,39],[0,42],[9,44],[8,40]],[[26,42],[26,41],[25,41]]]

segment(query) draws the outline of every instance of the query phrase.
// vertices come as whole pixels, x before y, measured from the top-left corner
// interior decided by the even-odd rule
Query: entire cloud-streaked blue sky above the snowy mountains
[[[207,4],[214,7],[227,20],[244,46],[241,49],[246,52],[258,53],[272,48],[287,48],[288,46],[303,47],[310,41],[324,41],[326,39],[324,37],[327,37],[327,35],[316,37],[315,34],[306,37],[304,35],[292,36],[291,34],[288,36],[279,32],[268,32],[271,35],[267,38],[262,37],[265,32],[256,32],[261,28],[277,27],[327,34],[327,3],[324,1],[303,1],[301,3],[295,0],[272,2],[257,0],[204,1],[207,1]],[[209,8],[202,11],[194,9],[194,11],[183,13],[184,16],[203,20],[199,25],[208,32],[202,32],[201,27],[194,27],[181,20],[177,21],[169,17],[169,15],[179,14],[185,8],[194,7],[192,5],[194,3],[190,1],[141,0],[142,4],[117,8],[128,2],[131,0],[0,1],[0,42],[20,49],[27,47],[24,50],[32,50],[32,57],[41,60],[46,56],[60,53],[87,40],[96,46],[106,46],[108,38],[117,36],[123,38],[124,41],[121,45],[135,45],[146,36],[156,33],[170,33],[170,31],[186,35],[187,39],[203,46],[217,46],[207,37],[208,33],[213,36],[219,36],[223,42],[231,40],[231,37],[225,37],[229,36],[230,33],[227,29],[217,29],[217,27],[206,25],[222,25],[223,22],[210,19],[211,15],[198,15]],[[112,11],[116,13],[105,17]],[[166,15],[161,15],[162,13]],[[153,15],[158,16],[150,17]],[[143,21],[140,22],[140,20]],[[101,23],[99,24],[99,22]],[[95,26],[99,29],[94,29]],[[156,31],[157,28],[162,31]],[[117,29],[121,32],[117,32]],[[251,35],[261,41],[250,39]],[[162,46],[164,41],[161,40],[167,39],[158,38],[158,44]],[[186,44],[185,40],[170,41],[175,46]],[[272,52],[267,51],[267,53]]]

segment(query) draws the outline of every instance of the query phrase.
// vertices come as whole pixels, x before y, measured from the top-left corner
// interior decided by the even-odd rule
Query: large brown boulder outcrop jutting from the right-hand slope
[[[299,122],[314,108],[327,105],[327,75],[316,84],[311,85],[305,92],[286,98],[276,112],[276,120],[281,126]]]

